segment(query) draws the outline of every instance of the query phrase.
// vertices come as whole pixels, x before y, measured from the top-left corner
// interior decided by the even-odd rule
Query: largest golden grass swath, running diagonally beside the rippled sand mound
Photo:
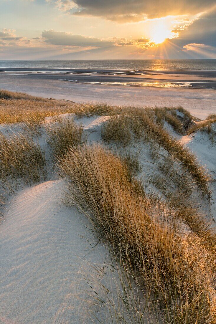
[[[84,145],[69,150],[60,168],[72,181],[72,201],[90,209],[121,264],[138,274],[146,298],[163,310],[165,321],[214,323],[211,259],[195,235],[182,236],[178,224],[153,217],[152,203],[135,194],[126,164],[108,149]]]

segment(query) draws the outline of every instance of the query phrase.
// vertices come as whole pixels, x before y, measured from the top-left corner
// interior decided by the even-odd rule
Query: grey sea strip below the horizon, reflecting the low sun
[[[103,69],[103,70],[210,70],[216,71],[216,59],[188,60],[0,60],[0,68]]]

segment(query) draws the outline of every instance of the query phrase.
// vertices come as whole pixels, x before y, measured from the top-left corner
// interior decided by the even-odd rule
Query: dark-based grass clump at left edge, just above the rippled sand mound
[[[0,174],[1,180],[38,183],[46,178],[45,154],[27,135],[0,134]]]

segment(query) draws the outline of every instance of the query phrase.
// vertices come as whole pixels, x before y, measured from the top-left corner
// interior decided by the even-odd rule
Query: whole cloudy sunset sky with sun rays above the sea
[[[0,60],[216,58],[215,0],[0,0]]]

